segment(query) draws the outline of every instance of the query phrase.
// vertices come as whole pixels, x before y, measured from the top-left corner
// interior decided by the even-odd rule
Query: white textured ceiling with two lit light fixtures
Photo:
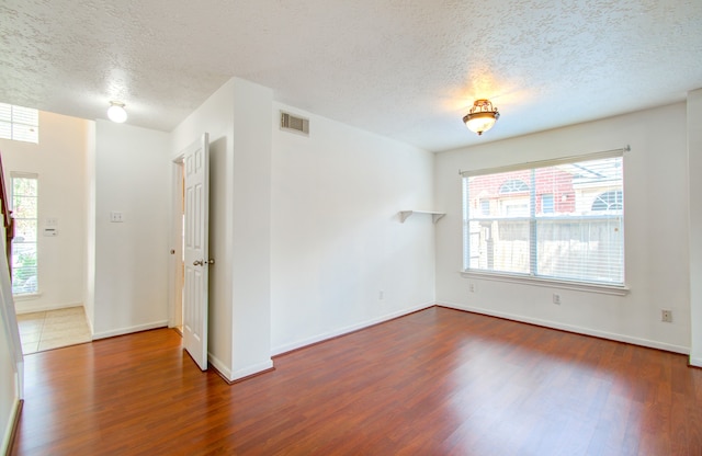
[[[701,0],[2,0],[0,101],[171,130],[229,78],[438,151],[684,100]],[[461,122],[499,107],[478,138]]]

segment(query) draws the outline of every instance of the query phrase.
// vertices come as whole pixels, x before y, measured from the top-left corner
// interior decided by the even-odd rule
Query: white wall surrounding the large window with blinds
[[[499,126],[499,125],[498,125]],[[489,134],[486,136],[489,137]],[[627,296],[462,277],[458,170],[568,157],[631,145],[624,156]],[[688,158],[684,103],[439,153],[437,297],[456,308],[687,353],[690,347]],[[691,171],[692,172],[692,171]],[[468,293],[473,282],[477,293]],[[672,323],[660,321],[671,309]]]

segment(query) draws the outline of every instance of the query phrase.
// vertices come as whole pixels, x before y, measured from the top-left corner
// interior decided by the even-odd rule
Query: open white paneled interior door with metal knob
[[[201,369],[207,369],[207,232],[210,150],[207,134],[183,151],[185,223],[183,344]]]

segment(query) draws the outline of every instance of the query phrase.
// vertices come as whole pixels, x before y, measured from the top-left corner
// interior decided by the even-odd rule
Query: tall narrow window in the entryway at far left
[[[37,231],[38,179],[36,174],[12,173],[12,294],[38,293]]]

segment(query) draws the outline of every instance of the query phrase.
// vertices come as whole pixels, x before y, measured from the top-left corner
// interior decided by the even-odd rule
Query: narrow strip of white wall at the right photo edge
[[[702,89],[688,94],[690,194],[690,364],[702,367]]]

